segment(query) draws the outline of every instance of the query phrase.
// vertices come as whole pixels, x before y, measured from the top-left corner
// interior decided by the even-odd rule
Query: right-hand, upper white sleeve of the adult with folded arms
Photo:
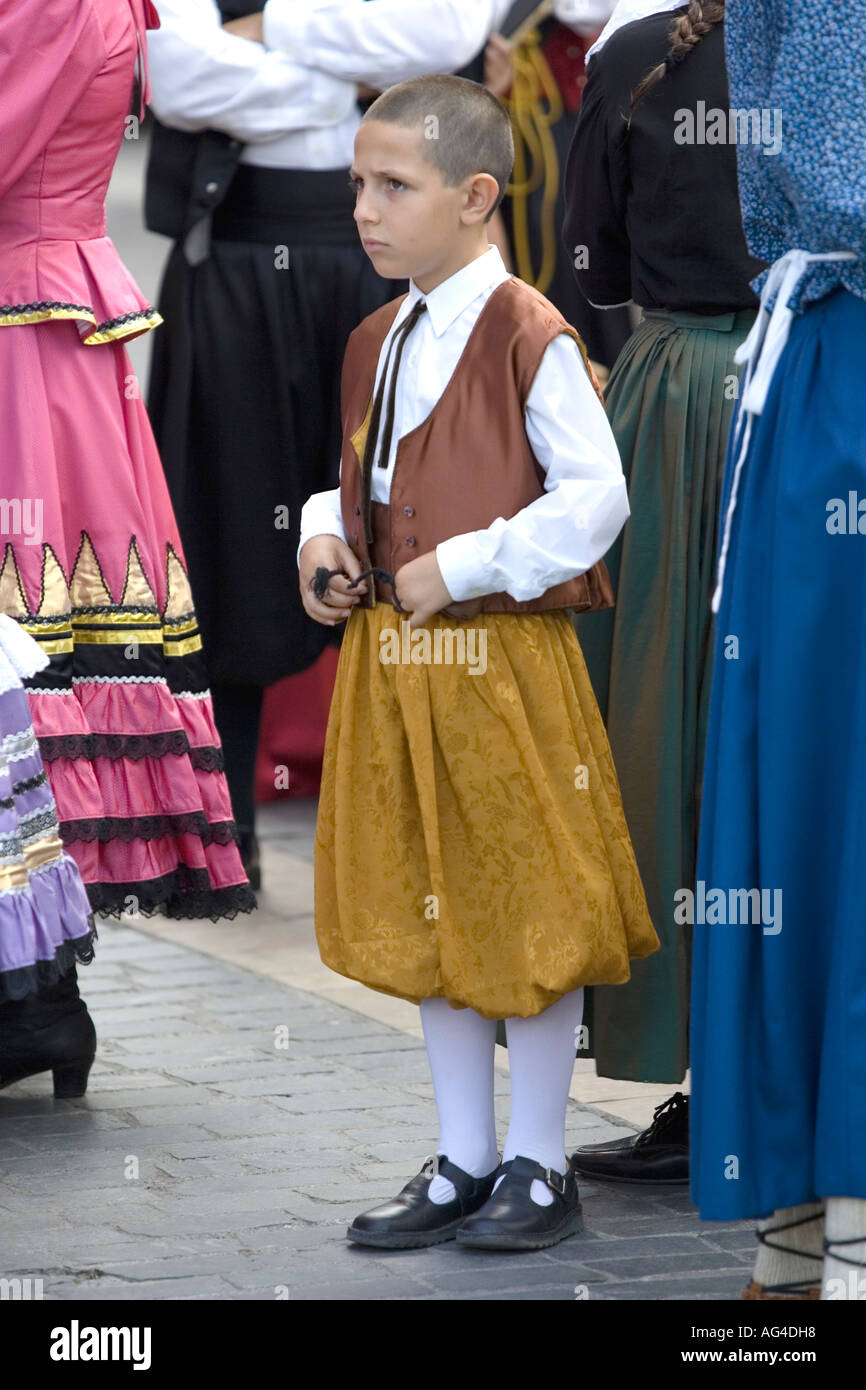
[[[510,7],[510,0],[267,0],[264,43],[336,76],[386,88],[456,72]]]

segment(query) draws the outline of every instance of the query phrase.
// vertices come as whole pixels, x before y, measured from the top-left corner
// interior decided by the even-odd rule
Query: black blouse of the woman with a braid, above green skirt
[[[730,107],[724,25],[717,24],[635,108],[631,93],[670,51],[681,10],[619,29],[589,63],[566,165],[563,239],[592,304],[721,314],[751,309],[763,270],[746,250],[735,145],[677,143],[684,110]],[[767,158],[778,156],[766,156]],[[580,247],[585,247],[581,252]],[[585,264],[584,264],[585,263]]]

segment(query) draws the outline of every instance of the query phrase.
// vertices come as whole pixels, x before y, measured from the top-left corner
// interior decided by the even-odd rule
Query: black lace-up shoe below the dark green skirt
[[[676,1091],[656,1105],[649,1129],[571,1155],[581,1177],[606,1183],[688,1183],[688,1095]]]

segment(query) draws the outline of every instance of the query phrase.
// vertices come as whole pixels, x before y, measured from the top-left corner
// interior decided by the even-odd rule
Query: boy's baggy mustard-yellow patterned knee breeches
[[[410,631],[389,603],[353,610],[325,741],[316,934],[339,974],[485,1019],[621,984],[630,958],[657,949],[566,612],[439,613]]]

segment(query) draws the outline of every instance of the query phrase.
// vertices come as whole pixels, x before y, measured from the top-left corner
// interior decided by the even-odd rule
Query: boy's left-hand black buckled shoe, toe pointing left
[[[496,1168],[485,1177],[473,1177],[445,1154],[432,1154],[396,1197],[356,1216],[346,1236],[359,1245],[377,1245],[379,1250],[417,1250],[453,1240],[460,1222],[484,1207],[498,1175]],[[457,1195],[453,1201],[430,1201],[427,1193],[436,1176],[455,1184]]]

